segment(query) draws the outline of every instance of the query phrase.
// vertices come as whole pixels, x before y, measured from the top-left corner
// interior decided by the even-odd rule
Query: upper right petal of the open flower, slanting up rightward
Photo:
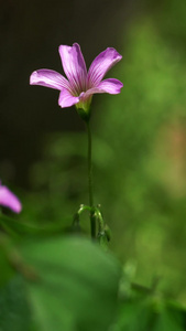
[[[97,85],[101,82],[107,72],[120,60],[120,55],[114,49],[108,47],[101,52],[91,63],[88,71],[89,87]]]

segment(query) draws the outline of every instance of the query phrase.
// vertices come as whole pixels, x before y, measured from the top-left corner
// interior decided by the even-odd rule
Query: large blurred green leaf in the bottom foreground
[[[32,242],[23,255],[39,279],[28,282],[40,331],[105,331],[114,319],[120,265],[79,238]]]

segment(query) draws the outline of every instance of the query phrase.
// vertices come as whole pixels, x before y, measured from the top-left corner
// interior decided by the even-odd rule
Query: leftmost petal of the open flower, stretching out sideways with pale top
[[[30,77],[31,85],[41,85],[55,89],[70,88],[69,82],[59,73],[51,70],[39,70],[32,73]]]

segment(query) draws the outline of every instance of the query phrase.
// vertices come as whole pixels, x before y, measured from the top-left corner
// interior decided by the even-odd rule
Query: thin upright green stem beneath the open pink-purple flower
[[[91,162],[91,130],[89,120],[86,121],[88,134],[88,191],[89,191],[89,205],[90,205],[90,228],[91,238],[96,238],[96,215],[94,210],[94,193],[92,193],[92,162]]]

